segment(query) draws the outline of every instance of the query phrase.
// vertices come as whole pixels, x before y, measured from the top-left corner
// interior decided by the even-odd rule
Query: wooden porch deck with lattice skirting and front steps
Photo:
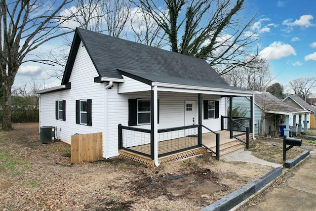
[[[220,130],[216,131],[220,134],[220,158],[227,156],[232,153],[236,153],[244,150],[244,146],[240,144],[235,138],[230,138],[230,131],[228,130]],[[216,135],[214,133],[203,133],[202,134],[202,143],[210,148],[213,151],[216,151]],[[197,145],[197,136],[194,137],[181,137],[176,139],[170,139],[166,141],[158,142],[158,154],[164,154],[170,152],[170,147],[172,147],[172,151],[181,150],[187,147],[196,146]],[[143,152],[145,154],[150,154],[150,144],[145,144],[141,146],[130,147],[129,149]],[[185,158],[189,158],[192,156],[200,155],[206,152],[210,152],[206,150],[206,148],[195,148],[192,150],[187,150],[184,152],[174,153],[171,155],[159,157],[159,163],[170,162],[174,160],[181,160]],[[146,157],[139,155],[137,153],[129,152],[126,150],[119,150],[119,155],[123,158],[134,160],[146,165],[153,165],[153,161]],[[212,153],[213,156],[215,154]]]

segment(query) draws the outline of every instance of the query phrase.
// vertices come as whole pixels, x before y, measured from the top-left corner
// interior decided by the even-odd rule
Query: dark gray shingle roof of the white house
[[[203,59],[77,29],[62,84],[69,80],[82,41],[100,77],[122,79],[118,70],[152,82],[244,90],[226,84]]]

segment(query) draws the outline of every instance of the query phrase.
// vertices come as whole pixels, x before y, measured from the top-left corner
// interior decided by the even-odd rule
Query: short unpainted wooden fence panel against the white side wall
[[[100,161],[102,156],[102,132],[71,136],[71,163]]]

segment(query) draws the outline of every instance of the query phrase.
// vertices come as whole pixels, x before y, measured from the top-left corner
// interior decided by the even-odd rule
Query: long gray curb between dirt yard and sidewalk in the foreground
[[[222,199],[203,208],[201,211],[223,211],[230,210],[236,205],[240,204],[251,195],[261,190],[264,186],[269,184],[272,180],[282,174],[282,167],[277,167],[265,175],[259,177],[253,182],[246,184],[237,191],[223,197]]]

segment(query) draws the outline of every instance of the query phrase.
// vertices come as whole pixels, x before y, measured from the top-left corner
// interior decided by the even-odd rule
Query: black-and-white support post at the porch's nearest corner
[[[154,142],[154,163],[155,166],[159,167],[158,163],[158,89],[157,85],[154,85],[154,90],[151,91],[151,146]]]

